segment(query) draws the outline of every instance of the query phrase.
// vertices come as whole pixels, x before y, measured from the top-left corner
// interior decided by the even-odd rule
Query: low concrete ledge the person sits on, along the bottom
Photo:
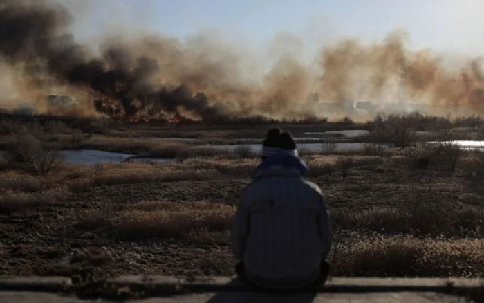
[[[0,291],[71,293],[84,299],[127,300],[187,293],[254,292],[231,277],[127,275],[74,285],[66,277],[0,276]],[[329,279],[316,293],[445,293],[484,302],[484,279],[345,278]]]

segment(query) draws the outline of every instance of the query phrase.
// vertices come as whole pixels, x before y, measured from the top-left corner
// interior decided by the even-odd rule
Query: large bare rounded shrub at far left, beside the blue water
[[[8,159],[35,174],[45,174],[59,167],[62,163],[62,153],[42,141],[42,135],[32,134],[27,129],[21,129],[15,135],[14,143],[8,149]]]

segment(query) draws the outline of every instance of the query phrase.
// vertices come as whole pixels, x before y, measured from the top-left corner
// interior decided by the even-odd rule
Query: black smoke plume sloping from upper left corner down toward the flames
[[[150,84],[149,78],[160,70],[155,59],[133,58],[122,46],[110,46],[102,57],[91,58],[84,46],[64,32],[70,20],[62,6],[0,0],[0,53],[13,62],[41,60],[59,80],[92,89],[100,96],[95,108],[109,116],[124,112],[134,117],[145,107],[176,113],[178,106],[203,119],[225,116],[226,109],[212,106],[203,93],[194,96],[186,86]]]

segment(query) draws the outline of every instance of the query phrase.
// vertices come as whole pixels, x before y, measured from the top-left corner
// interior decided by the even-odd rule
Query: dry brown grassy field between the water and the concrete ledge
[[[120,138],[109,140],[122,144]],[[44,172],[3,160],[1,273],[79,282],[122,274],[234,275],[230,228],[257,154],[157,144],[176,160],[55,163]],[[301,154],[331,209],[333,275],[483,276],[483,152],[368,143],[360,152],[326,146]]]

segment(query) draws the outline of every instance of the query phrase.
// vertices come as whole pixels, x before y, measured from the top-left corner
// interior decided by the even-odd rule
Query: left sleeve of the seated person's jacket
[[[248,191],[244,190],[236,210],[231,235],[232,252],[236,259],[242,259],[245,251],[245,241],[249,232],[249,202]]]

